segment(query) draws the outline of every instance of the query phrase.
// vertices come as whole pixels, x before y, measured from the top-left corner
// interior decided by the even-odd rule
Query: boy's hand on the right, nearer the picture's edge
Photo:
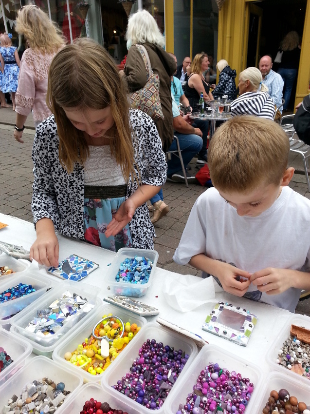
[[[278,295],[292,287],[295,271],[292,269],[275,269],[267,267],[251,275],[252,283],[260,292]]]

